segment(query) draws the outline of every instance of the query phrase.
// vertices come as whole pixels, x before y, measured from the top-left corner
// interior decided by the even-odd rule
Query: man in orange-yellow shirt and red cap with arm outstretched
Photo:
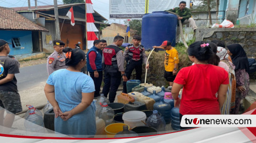
[[[165,50],[164,77],[169,82],[169,86],[173,86],[173,81],[177,75],[179,63],[178,51],[172,46],[170,41],[164,41],[162,45],[153,47]]]

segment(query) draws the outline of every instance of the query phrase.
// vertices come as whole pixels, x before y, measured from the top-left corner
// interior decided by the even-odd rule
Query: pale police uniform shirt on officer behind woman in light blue
[[[65,53],[58,53],[54,51],[50,56],[47,57],[47,73],[48,76],[51,73],[54,73],[54,71],[58,69],[68,68],[68,66],[65,65]]]

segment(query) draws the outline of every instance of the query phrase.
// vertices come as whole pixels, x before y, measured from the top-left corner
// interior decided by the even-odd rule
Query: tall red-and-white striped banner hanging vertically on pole
[[[87,25],[87,49],[91,49],[93,46],[94,40],[98,40],[97,35],[94,32],[98,32],[99,30],[94,25],[94,18],[92,13],[94,13],[94,10],[92,8],[92,2],[91,0],[86,0],[86,25]]]

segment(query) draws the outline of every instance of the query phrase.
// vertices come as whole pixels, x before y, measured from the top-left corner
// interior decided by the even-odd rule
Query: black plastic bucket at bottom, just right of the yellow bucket
[[[148,136],[148,135],[156,135],[157,130],[153,127],[148,126],[137,126],[132,129],[132,131],[136,132],[139,136]]]

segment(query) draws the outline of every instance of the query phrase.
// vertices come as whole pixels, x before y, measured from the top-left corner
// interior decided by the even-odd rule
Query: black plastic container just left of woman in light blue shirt
[[[54,117],[55,117],[54,109],[50,109],[45,112],[44,114],[45,128],[54,130]]]

